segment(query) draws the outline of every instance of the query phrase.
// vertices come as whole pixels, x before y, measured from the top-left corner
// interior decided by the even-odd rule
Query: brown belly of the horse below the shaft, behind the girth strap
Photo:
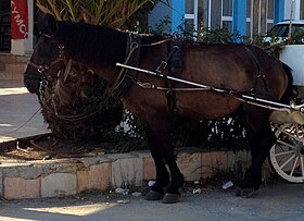
[[[212,91],[178,93],[176,105],[180,115],[194,120],[212,120],[233,113],[240,101]]]

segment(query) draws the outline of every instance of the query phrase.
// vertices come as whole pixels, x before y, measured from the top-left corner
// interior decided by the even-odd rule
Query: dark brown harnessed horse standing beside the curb
[[[292,87],[290,69],[252,45],[182,42],[177,46],[173,41],[172,37],[136,35],[104,26],[56,21],[48,15],[24,73],[24,84],[30,93],[39,94],[41,82],[53,78],[52,73],[64,72],[71,59],[107,81],[124,107],[145,125],[156,170],[156,182],[145,198],[165,204],[178,202],[180,187],[185,184],[172,144],[173,115],[212,120],[237,112],[244,122],[252,162],[236,194],[249,195],[257,191],[262,184],[262,164],[276,143],[269,122],[271,110],[244,102],[233,95],[240,93],[288,102]],[[179,54],[181,62],[174,53]],[[128,71],[117,63],[156,70],[164,77]],[[166,77],[173,74],[233,93],[189,88],[187,84]]]

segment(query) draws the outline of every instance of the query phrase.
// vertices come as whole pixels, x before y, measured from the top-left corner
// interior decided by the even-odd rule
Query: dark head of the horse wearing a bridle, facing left
[[[46,26],[39,32],[38,42],[24,73],[24,85],[29,93],[39,94],[65,69],[66,54],[64,46],[55,40],[56,29],[55,19],[46,15]]]

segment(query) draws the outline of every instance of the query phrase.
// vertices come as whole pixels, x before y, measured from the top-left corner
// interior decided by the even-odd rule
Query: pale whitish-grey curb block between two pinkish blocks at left
[[[76,194],[76,174],[52,173],[41,177],[41,197],[68,196]]]

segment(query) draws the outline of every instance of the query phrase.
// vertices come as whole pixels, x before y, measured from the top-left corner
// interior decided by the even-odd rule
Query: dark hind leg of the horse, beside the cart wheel
[[[266,112],[266,111],[265,111]],[[262,114],[261,114],[262,113]],[[252,163],[245,171],[244,180],[237,188],[237,196],[250,196],[262,184],[262,164],[277,138],[270,128],[269,113],[246,115],[245,131],[249,140]]]

